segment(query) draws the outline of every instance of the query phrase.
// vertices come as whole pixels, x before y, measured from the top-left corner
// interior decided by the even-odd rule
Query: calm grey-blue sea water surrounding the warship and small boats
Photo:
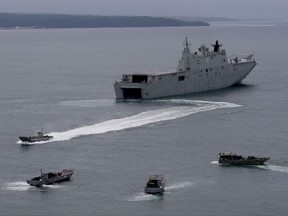
[[[243,85],[149,101],[116,101],[122,73],[175,68],[219,40],[228,56],[254,53]],[[0,31],[0,215],[287,214],[287,23],[210,27]],[[43,128],[54,139],[23,146]],[[219,152],[264,155],[229,167]],[[44,171],[71,181],[34,188]],[[163,174],[163,196],[144,194]]]

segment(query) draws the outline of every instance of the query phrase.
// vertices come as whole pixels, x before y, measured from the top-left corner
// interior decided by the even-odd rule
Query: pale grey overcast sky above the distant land
[[[0,0],[0,12],[288,19],[288,0]]]

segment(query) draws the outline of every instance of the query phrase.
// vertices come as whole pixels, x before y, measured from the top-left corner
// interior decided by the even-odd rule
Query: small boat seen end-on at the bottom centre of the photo
[[[163,194],[164,187],[165,180],[163,175],[150,175],[144,191],[147,194]]]

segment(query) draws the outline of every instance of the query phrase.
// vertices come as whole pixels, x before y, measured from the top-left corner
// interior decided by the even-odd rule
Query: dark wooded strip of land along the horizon
[[[0,13],[0,28],[102,28],[208,26],[201,21],[148,16],[92,16]]]

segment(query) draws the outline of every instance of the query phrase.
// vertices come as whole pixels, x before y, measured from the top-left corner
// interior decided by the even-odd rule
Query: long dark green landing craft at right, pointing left
[[[224,165],[238,165],[238,166],[250,166],[250,165],[263,165],[270,157],[256,157],[237,155],[231,152],[219,153],[219,164]]]

